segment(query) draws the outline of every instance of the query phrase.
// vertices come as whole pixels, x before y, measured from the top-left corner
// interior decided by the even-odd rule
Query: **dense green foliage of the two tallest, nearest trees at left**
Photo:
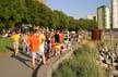
[[[34,0],[0,0],[0,22],[4,28],[13,28],[17,23],[49,25],[51,10]]]

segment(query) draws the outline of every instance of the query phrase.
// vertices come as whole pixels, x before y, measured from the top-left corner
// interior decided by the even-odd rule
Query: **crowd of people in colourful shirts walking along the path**
[[[22,41],[23,52],[32,53],[32,67],[36,68],[36,60],[43,64],[47,64],[46,59],[60,55],[68,49],[71,49],[70,37],[67,37],[59,29],[45,33],[44,29],[37,28],[30,33],[22,34],[12,31],[11,39],[13,40],[14,55],[19,54],[19,44]]]

